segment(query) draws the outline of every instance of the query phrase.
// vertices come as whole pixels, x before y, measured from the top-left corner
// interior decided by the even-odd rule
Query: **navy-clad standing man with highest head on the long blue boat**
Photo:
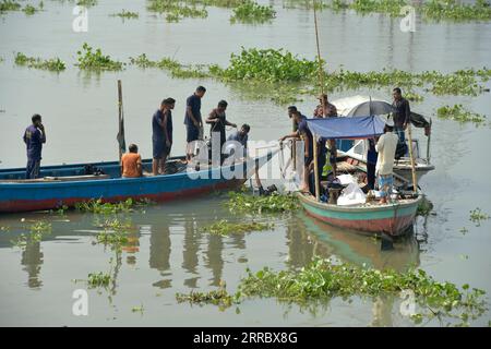
[[[185,115],[184,115],[184,124],[187,129],[187,137],[188,142],[185,158],[188,160],[191,159],[193,155],[193,149],[191,143],[193,141],[197,141],[200,139],[200,132],[203,133],[203,121],[201,119],[201,98],[203,98],[206,93],[206,88],[203,86],[199,86],[194,94],[185,100]],[[203,137],[203,135],[201,135]]]

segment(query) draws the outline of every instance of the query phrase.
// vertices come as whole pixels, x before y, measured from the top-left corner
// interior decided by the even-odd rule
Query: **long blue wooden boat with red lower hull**
[[[233,171],[235,166],[206,167],[194,172],[193,179],[185,171],[181,158],[171,158],[181,169],[173,174],[149,176],[141,178],[121,178],[118,161],[92,164],[104,174],[85,174],[87,164],[46,166],[40,168],[40,178],[25,180],[25,169],[0,170],[0,213],[16,213],[41,209],[55,209],[61,206],[74,206],[75,203],[101,198],[103,202],[120,202],[132,197],[166,202],[181,197],[192,197],[216,190],[240,186],[254,173],[255,166],[267,163],[275,152],[268,152],[242,165],[241,176],[227,179],[224,171]],[[184,167],[184,168],[182,168]],[[151,171],[152,160],[143,160],[143,168]]]

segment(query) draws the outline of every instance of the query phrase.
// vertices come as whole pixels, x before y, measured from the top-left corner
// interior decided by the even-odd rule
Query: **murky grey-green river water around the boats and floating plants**
[[[127,142],[151,155],[151,117],[167,96],[178,103],[173,113],[173,152],[183,153],[185,97],[199,84],[207,87],[202,111],[219,99],[229,101],[228,119],[251,125],[252,140],[275,140],[290,122],[284,107],[248,99],[244,92],[212,80],[172,80],[166,72],[128,67],[100,75],[80,72],[73,63],[83,43],[100,47],[112,58],[128,61],[145,52],[151,59],[175,57],[184,63],[226,65],[240,47],[285,48],[302,57],[315,56],[312,13],[285,10],[273,2],[277,19],[264,25],[231,25],[229,10],[208,8],[207,20],[166,21],[145,10],[145,1],[99,1],[88,10],[88,32],[71,28],[73,3],[45,1],[45,11],[33,16],[11,12],[0,16],[0,166],[25,165],[21,136],[31,116],[44,117],[48,143],[43,163],[62,164],[117,158],[117,80],[123,84]],[[121,9],[140,12],[140,19],[122,21],[108,14]],[[418,19],[412,34],[399,31],[397,19],[352,12],[319,14],[322,56],[330,70],[343,65],[355,71],[397,68],[419,72],[451,72],[491,63],[491,24],[424,23]],[[14,52],[69,62],[67,71],[51,72],[15,67]],[[490,84],[488,83],[488,87]],[[390,98],[390,88],[348,91],[331,99],[355,94]],[[478,97],[424,95],[411,108],[432,117],[438,107],[462,103],[489,116],[489,94]],[[298,104],[310,113],[314,100]],[[273,231],[232,237],[201,232],[217,219],[239,221],[224,208],[226,196],[149,206],[125,215],[132,227],[130,243],[121,255],[94,245],[97,217],[68,212],[0,216],[0,324],[1,325],[298,325],[400,326],[412,323],[399,312],[398,299],[358,299],[299,308],[272,299],[252,299],[224,311],[214,305],[178,304],[176,292],[215,289],[219,280],[236,290],[246,268],[299,268],[313,255],[383,268],[404,270],[418,265],[438,280],[469,284],[491,293],[491,220],[476,227],[469,210],[491,214],[488,127],[460,125],[433,117],[432,163],[436,169],[421,186],[434,204],[435,215],[416,222],[416,236],[381,251],[380,241],[322,225],[303,213],[263,217],[275,222]],[[419,134],[422,144],[424,140]],[[25,251],[12,248],[32,221],[52,224],[52,232]],[[462,228],[468,231],[463,233]],[[418,241],[417,241],[418,240]],[[88,316],[72,314],[72,293],[84,288],[73,279],[111,268],[110,290],[89,290]],[[116,265],[116,267],[115,267]],[[133,306],[143,305],[143,312]],[[487,325],[490,313],[472,325]],[[439,325],[432,322],[429,325]]]

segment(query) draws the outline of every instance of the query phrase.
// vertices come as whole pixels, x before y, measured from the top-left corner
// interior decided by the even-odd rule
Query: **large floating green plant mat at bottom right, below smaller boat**
[[[488,310],[483,290],[470,289],[469,285],[458,288],[452,282],[439,282],[422,269],[398,273],[334,264],[321,258],[300,270],[248,270],[237,293],[238,297],[274,297],[282,301],[304,303],[335,297],[399,296],[404,291],[412,292],[421,308],[421,312],[411,316],[416,323],[438,317],[466,325]]]

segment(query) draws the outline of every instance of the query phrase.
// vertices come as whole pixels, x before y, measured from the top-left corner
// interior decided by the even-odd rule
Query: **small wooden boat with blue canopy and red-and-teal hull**
[[[307,123],[315,139],[364,140],[381,135],[385,121],[381,117],[371,116],[308,119]],[[316,142],[314,142],[313,152],[316,153]],[[354,171],[362,171],[360,167],[347,165]],[[308,215],[339,228],[374,234],[402,234],[412,225],[418,204],[422,201],[421,194],[414,194],[407,195],[408,198],[397,198],[386,204],[375,201],[342,206],[335,203],[321,202],[319,186],[315,192],[316,196],[310,193],[298,193],[300,203]]]

